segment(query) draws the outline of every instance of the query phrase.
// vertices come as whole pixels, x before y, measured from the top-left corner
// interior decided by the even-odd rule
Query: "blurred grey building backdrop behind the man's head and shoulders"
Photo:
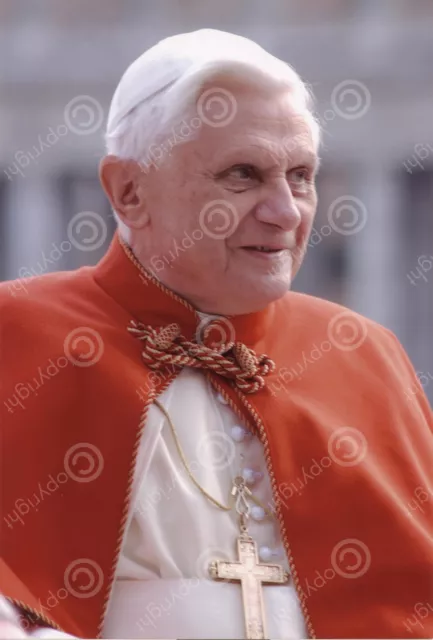
[[[394,331],[432,402],[433,0],[0,0],[0,278],[100,259],[113,91],[145,49],[203,27],[252,38],[312,87],[319,209],[294,289]],[[92,251],[68,242],[82,212],[107,230]]]

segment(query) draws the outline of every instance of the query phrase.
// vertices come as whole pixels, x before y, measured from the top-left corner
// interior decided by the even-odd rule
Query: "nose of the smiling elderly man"
[[[294,231],[299,227],[301,215],[286,181],[256,206],[255,217],[260,222],[275,225],[283,231]]]

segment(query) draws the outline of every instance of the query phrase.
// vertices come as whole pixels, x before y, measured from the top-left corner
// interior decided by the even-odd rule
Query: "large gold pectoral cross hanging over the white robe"
[[[238,478],[236,478],[238,480]],[[236,485],[242,493],[244,485]],[[245,502],[245,501],[244,501]],[[263,640],[267,637],[266,617],[263,605],[263,584],[285,584],[289,574],[278,564],[261,564],[258,560],[257,545],[247,533],[245,516],[240,513],[241,535],[237,539],[238,562],[214,560],[209,565],[210,576],[214,580],[240,582],[244,605],[245,630],[248,640]]]

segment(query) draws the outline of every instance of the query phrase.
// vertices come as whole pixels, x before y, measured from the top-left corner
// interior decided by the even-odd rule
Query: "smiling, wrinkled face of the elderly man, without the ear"
[[[138,258],[166,286],[201,311],[236,315],[290,288],[316,211],[317,154],[290,93],[226,87],[236,116],[203,124],[149,171],[150,220],[134,236]]]

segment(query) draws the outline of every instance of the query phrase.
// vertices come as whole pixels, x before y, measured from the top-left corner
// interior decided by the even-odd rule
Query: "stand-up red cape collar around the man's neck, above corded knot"
[[[188,340],[213,344],[243,342],[254,349],[272,328],[275,303],[265,309],[237,316],[202,313],[171,291],[139,263],[131,248],[116,231],[102,260],[93,267],[95,281],[135,321],[152,327],[177,323]]]

